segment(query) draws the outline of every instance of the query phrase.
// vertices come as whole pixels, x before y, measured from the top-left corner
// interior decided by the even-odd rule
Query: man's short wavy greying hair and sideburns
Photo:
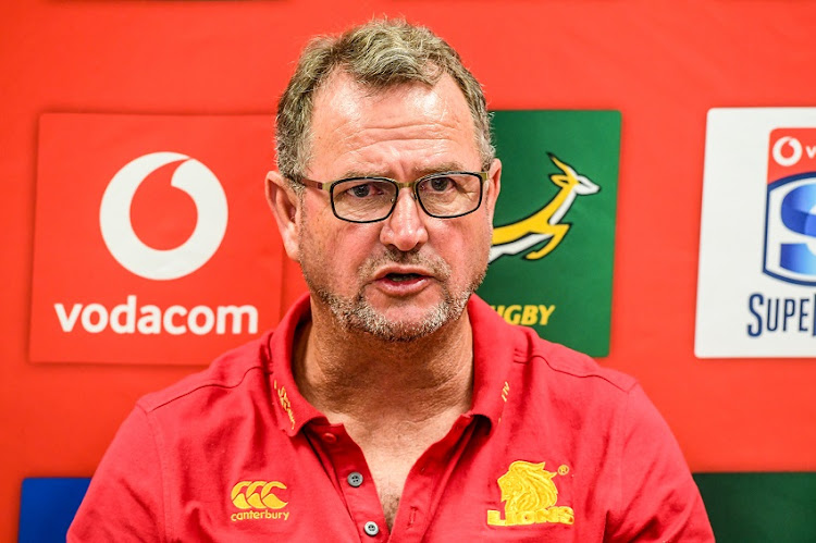
[[[335,70],[375,90],[417,82],[433,86],[444,74],[450,75],[470,108],[482,166],[490,166],[496,151],[484,92],[459,53],[423,26],[374,20],[337,37],[318,37],[300,55],[277,103],[277,168],[284,177],[296,182],[306,174],[314,95]]]

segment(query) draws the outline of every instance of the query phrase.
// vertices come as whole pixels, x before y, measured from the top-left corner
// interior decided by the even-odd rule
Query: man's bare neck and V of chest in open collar
[[[311,322],[296,336],[295,382],[362,451],[392,528],[411,466],[470,408],[470,319],[466,310],[426,337],[399,343],[333,319],[312,305]]]

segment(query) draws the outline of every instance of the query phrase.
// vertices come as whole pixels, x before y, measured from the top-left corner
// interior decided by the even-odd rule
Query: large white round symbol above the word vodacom
[[[150,173],[183,161],[171,185],[184,190],[197,210],[189,238],[173,249],[154,249],[138,238],[131,224],[131,202]],[[218,177],[196,159],[177,152],[151,152],[132,160],[113,176],[102,196],[99,225],[102,239],[116,261],[136,275],[157,280],[183,277],[215,254],[226,232],[226,195]]]

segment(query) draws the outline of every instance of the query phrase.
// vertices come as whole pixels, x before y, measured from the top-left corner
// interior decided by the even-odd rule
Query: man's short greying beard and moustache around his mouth
[[[422,262],[426,266],[429,264],[429,262],[416,254],[391,250],[375,262],[370,262],[369,266],[373,269],[383,261],[400,263]],[[443,263],[443,266],[446,264]],[[437,276],[442,275],[446,279],[450,274],[449,270],[438,270],[438,264],[433,268],[437,272]],[[363,296],[362,291],[357,293],[354,299],[344,299],[326,291],[322,285],[313,281],[313,277],[310,277],[306,270],[304,270],[304,276],[312,295],[317,296],[331,309],[335,320],[344,330],[363,332],[383,342],[405,343],[429,336],[446,323],[459,319],[462,311],[465,311],[470,295],[482,284],[485,272],[486,267],[479,276],[473,279],[468,288],[458,296],[454,296],[449,288],[443,284],[443,299],[417,323],[395,322],[386,319],[371,307]]]

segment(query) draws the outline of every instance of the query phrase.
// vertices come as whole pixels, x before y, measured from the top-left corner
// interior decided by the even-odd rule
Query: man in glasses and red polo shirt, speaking
[[[472,295],[502,164],[447,44],[391,21],[314,41],[277,152],[310,296],[138,403],[70,540],[713,539],[636,383]]]

